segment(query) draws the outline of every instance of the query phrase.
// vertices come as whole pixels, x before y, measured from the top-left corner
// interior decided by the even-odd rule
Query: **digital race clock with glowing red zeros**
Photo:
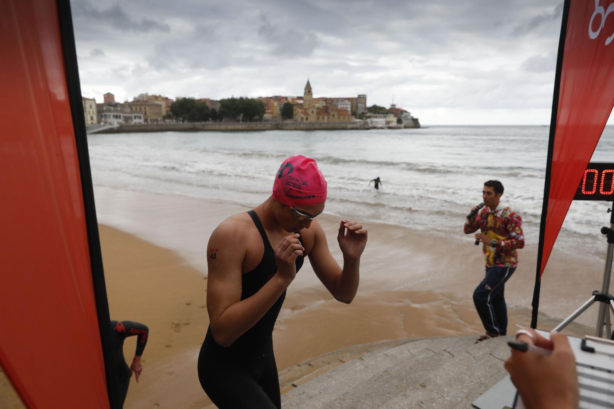
[[[614,163],[589,163],[573,200],[614,201],[613,179]]]

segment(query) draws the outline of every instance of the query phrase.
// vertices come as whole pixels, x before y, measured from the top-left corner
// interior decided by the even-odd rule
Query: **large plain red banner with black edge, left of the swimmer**
[[[119,407],[69,3],[2,6],[0,365],[30,409]]]

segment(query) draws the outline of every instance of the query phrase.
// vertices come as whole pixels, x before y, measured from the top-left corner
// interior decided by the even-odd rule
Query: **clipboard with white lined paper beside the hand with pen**
[[[537,330],[550,339],[550,332]],[[567,336],[572,347],[580,386],[580,409],[614,408],[614,341],[604,338]],[[516,392],[514,409],[525,409]]]

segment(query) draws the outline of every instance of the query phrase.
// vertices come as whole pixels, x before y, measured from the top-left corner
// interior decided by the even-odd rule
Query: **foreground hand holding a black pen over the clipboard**
[[[505,369],[527,409],[578,408],[575,357],[565,335],[553,332],[547,340],[532,329],[520,330],[508,344]]]

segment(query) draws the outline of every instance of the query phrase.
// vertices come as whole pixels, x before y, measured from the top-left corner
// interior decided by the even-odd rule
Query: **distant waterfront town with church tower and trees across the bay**
[[[162,123],[211,123],[211,122],[301,122],[314,124],[311,128],[419,128],[419,119],[411,112],[391,104],[389,109],[373,104],[368,106],[367,95],[317,98],[307,80],[301,96],[267,96],[258,98],[177,97],[142,93],[132,101],[115,101],[115,95],[107,92],[103,101],[82,95],[85,124],[150,125]],[[271,125],[272,126],[272,125]],[[288,127],[289,125],[284,125]],[[302,127],[305,128],[305,127]]]

